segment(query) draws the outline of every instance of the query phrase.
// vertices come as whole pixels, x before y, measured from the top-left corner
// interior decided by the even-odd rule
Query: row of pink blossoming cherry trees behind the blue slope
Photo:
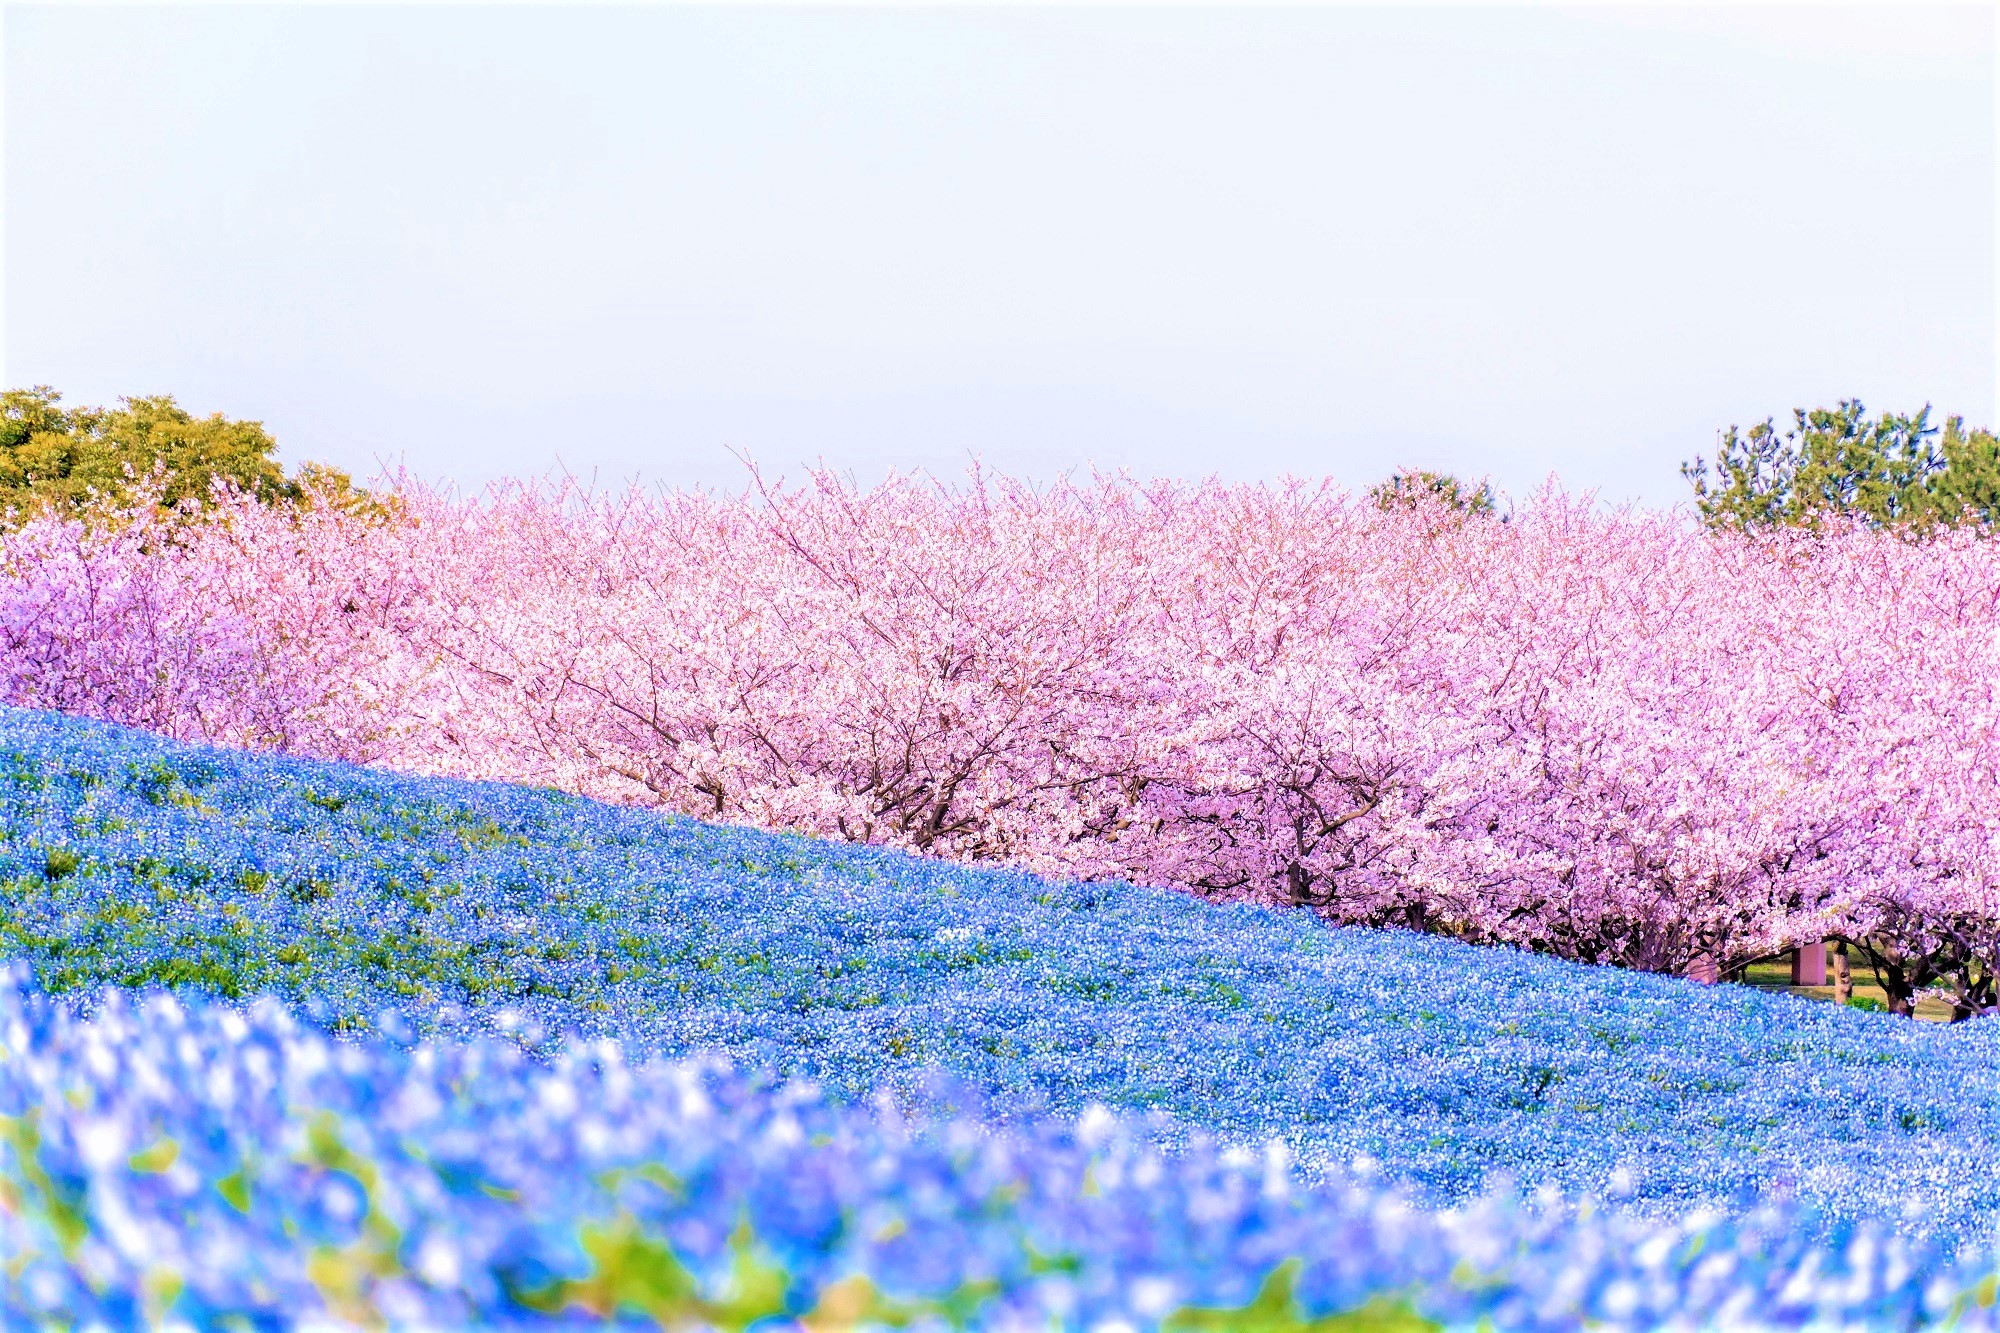
[[[0,695],[1650,971],[1996,1007],[2000,544],[974,478],[0,536]]]

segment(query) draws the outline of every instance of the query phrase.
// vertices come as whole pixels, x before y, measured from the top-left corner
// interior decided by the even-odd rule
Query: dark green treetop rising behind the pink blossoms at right
[[[1770,418],[1730,426],[1716,458],[1682,464],[1694,504],[1710,528],[1818,528],[1828,518],[1862,518],[1876,528],[1928,532],[1940,524],[1992,524],[2000,516],[2000,438],[1944,430],[1930,408],[1914,416],[1868,418],[1860,400],[1792,412],[1792,430]]]

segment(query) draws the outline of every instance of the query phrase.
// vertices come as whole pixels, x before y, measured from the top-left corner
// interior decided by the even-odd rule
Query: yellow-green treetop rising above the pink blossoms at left
[[[218,480],[266,504],[308,492],[368,504],[334,468],[306,464],[286,478],[278,442],[256,420],[194,416],[172,396],[122,398],[116,408],[64,408],[48,384],[0,392],[0,514],[76,514],[92,496],[126,504],[138,478],[160,474],[160,502],[202,502]]]

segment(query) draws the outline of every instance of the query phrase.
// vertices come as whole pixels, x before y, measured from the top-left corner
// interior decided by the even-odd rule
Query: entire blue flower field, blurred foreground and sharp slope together
[[[1996,1323],[1988,1023],[44,713],[0,779],[10,1319]]]

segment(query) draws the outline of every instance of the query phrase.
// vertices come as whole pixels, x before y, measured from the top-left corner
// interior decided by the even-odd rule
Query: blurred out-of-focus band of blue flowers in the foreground
[[[1108,1111],[996,1127],[950,1083],[842,1105],[606,1043],[332,1045],[272,1003],[106,991],[84,1017],[24,979],[0,987],[10,1321],[1994,1325],[1990,1251],[1796,1207],[1436,1211]]]

